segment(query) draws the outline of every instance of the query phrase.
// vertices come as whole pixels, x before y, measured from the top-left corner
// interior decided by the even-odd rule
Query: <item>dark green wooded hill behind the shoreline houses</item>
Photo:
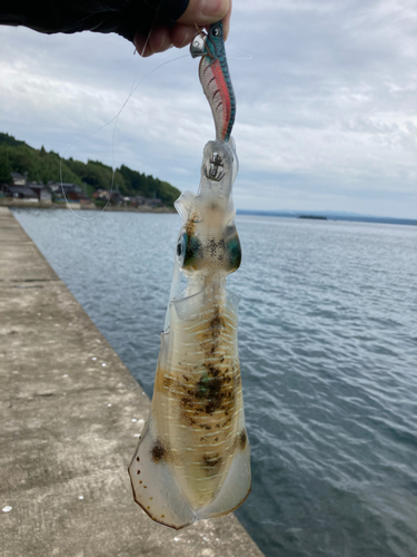
[[[0,133],[0,182],[10,182],[10,172],[28,173],[31,182],[59,182],[60,156],[53,150],[47,152],[43,147],[34,149],[24,141],[14,139],[9,134]],[[62,159],[62,182],[87,184],[87,193],[91,195],[96,189],[110,189],[112,169],[99,160]],[[158,197],[167,206],[172,206],[180,192],[168,182],[153,176],[132,170],[125,165],[115,172],[113,188],[122,195]]]

